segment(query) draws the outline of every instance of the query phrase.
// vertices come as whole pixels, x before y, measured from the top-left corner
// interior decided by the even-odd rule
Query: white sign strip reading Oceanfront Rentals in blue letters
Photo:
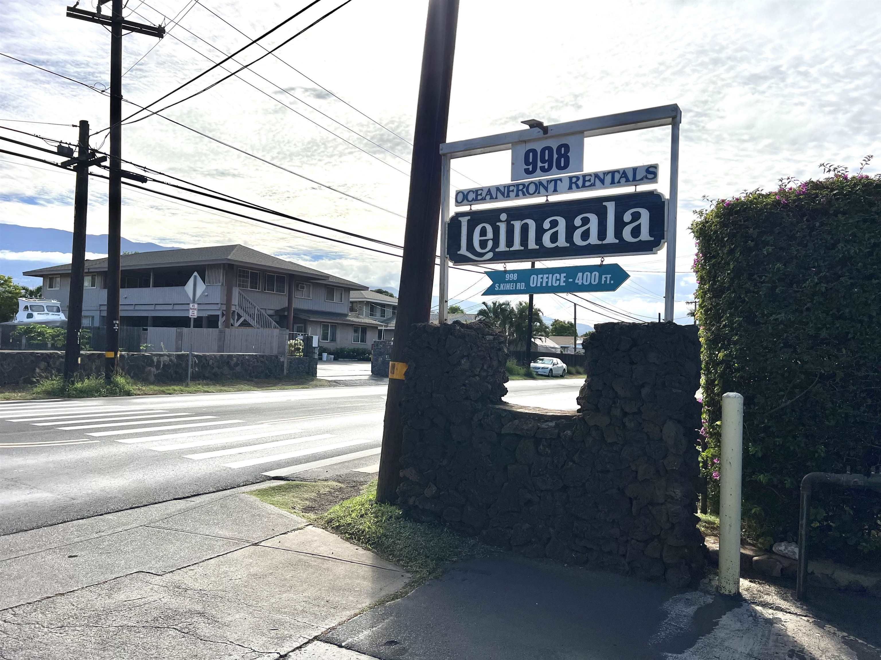
[[[511,202],[552,194],[587,193],[603,188],[657,185],[658,165],[620,167],[617,170],[562,174],[548,179],[533,179],[498,186],[463,188],[455,191],[456,206]]]

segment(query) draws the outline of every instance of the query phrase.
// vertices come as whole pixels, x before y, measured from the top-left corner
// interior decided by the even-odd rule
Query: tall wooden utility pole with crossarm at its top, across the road
[[[101,6],[111,4],[110,16]],[[119,357],[120,244],[122,243],[122,30],[148,34],[161,39],[162,26],[122,18],[122,0],[98,0],[98,11],[67,8],[68,18],[78,18],[110,26],[110,184],[107,193],[107,344],[104,348],[104,378],[110,380]]]

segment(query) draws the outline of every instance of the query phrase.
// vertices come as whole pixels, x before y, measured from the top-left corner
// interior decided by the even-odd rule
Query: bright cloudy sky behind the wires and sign
[[[322,0],[270,35],[265,46],[289,38],[340,2]],[[64,18],[64,0],[0,4],[0,51],[107,87],[110,40],[103,27]],[[89,4],[83,0],[81,6],[89,9]],[[126,13],[132,20],[164,22],[171,29],[158,45],[148,36],[125,37],[123,70],[155,48],[123,78],[124,97],[141,105],[159,98],[210,66],[209,59],[218,61],[220,51],[233,52],[303,4],[129,0]],[[280,48],[281,61],[267,57],[253,71],[242,72],[242,79],[230,78],[164,113],[285,169],[157,116],[124,128],[123,158],[292,215],[402,243],[407,141],[415,119],[426,6],[422,0],[353,0]],[[179,12],[180,24],[171,23]],[[252,47],[237,59],[250,62],[263,52]],[[694,290],[688,226],[692,211],[705,206],[703,195],[774,187],[787,175],[818,177],[822,161],[853,168],[866,154],[877,153],[879,54],[881,4],[870,2],[462,0],[448,139],[516,130],[522,128],[519,121],[532,117],[554,123],[677,103],[683,124],[676,316],[688,322],[685,301]],[[226,74],[216,70],[199,83],[221,75]],[[202,86],[191,85],[170,100]],[[123,105],[125,114],[133,110]],[[70,126],[10,120],[73,124],[80,119],[94,128],[107,126],[107,98],[0,57],[0,124],[73,141],[76,129]],[[93,147],[102,139],[96,136]],[[656,162],[666,193],[669,149],[670,128],[590,138],[584,166]],[[0,158],[0,223],[69,230],[72,175]],[[471,185],[466,175],[489,185],[509,180],[510,173],[507,152],[457,161],[455,170],[462,172],[453,176],[455,187]],[[90,196],[88,231],[104,233],[106,186],[93,180]],[[122,235],[131,240],[172,246],[243,243],[371,287],[398,284],[400,261],[391,257],[124,187],[122,218]],[[0,272],[4,259],[21,259],[4,250],[2,231],[0,225]],[[31,252],[39,249],[33,246]],[[663,251],[618,259],[631,279],[618,291],[590,297],[656,318],[663,310],[663,259]],[[482,275],[452,271],[450,294],[478,304],[487,285]],[[559,298],[539,297],[537,304],[546,315],[572,319],[572,305]],[[579,310],[579,320],[608,319]]]

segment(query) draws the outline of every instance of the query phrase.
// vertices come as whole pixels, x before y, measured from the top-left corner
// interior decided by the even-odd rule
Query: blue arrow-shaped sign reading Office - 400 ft
[[[614,291],[630,277],[617,263],[602,266],[491,270],[485,275],[492,280],[492,284],[484,291],[484,296]]]

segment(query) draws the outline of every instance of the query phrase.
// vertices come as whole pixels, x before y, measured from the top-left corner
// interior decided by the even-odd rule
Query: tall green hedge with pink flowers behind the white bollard
[[[692,232],[708,472],[722,394],[740,392],[747,532],[763,546],[796,540],[804,474],[881,463],[881,178],[720,200]],[[814,498],[811,539],[881,557],[879,517],[877,495],[830,489]]]

